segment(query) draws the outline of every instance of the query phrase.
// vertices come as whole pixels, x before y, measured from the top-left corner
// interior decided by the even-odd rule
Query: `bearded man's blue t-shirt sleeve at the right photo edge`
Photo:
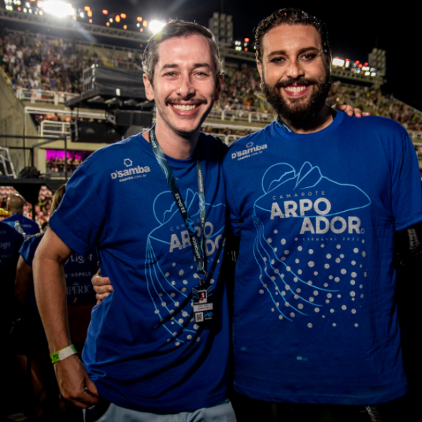
[[[400,231],[422,221],[421,174],[409,135],[397,143],[393,163],[392,214],[395,230]]]

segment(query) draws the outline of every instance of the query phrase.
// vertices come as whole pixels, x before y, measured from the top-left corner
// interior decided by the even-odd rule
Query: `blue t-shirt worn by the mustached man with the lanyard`
[[[158,139],[160,141],[160,139]],[[224,145],[200,135],[206,267],[214,269],[215,323],[193,321],[198,286],[188,231],[150,144],[141,134],[101,148],[72,176],[50,219],[82,255],[98,246],[113,293],[94,307],[83,359],[98,392],[120,407],[193,411],[226,398],[229,317],[219,269],[225,237]],[[205,159],[206,157],[206,159]],[[196,159],[169,164],[199,231]]]

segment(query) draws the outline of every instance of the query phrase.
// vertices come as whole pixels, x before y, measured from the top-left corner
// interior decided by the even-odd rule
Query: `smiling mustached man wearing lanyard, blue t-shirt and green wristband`
[[[96,151],[68,182],[34,260],[39,312],[61,394],[96,405],[87,421],[234,422],[219,274],[226,147],[200,133],[219,98],[218,47],[205,27],[173,21],[148,41],[143,69],[155,127]],[[94,247],[114,292],[94,308],[82,365],[63,263]]]

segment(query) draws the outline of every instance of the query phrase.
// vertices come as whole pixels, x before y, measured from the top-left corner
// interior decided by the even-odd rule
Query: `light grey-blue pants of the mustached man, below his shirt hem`
[[[89,410],[84,411],[86,422],[94,419],[89,417]],[[96,419],[98,422],[236,422],[233,407],[229,399],[212,407],[203,407],[196,411],[182,411],[179,414],[158,415],[118,407],[113,403],[106,412]]]

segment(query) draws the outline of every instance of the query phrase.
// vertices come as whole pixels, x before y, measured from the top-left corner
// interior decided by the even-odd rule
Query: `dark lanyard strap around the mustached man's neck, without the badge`
[[[199,198],[199,210],[200,210],[200,233],[202,234],[202,240],[200,241],[196,235],[196,229],[193,226],[193,221],[189,217],[188,210],[184,203],[181,193],[179,191],[179,186],[177,186],[176,179],[174,178],[172,169],[170,168],[167,158],[165,158],[164,153],[160,147],[160,144],[157,141],[155,136],[155,124],[149,132],[149,141],[151,148],[153,148],[153,153],[155,158],[158,161],[158,164],[161,167],[162,172],[167,179],[167,184],[169,185],[170,191],[172,192],[174,202],[179,208],[181,218],[183,218],[186,228],[188,229],[189,238],[191,238],[191,246],[193,250],[193,255],[198,267],[198,274],[200,274],[200,283],[202,284],[203,279],[206,278],[207,273],[205,271],[205,259],[204,259],[204,246],[205,246],[205,188],[204,188],[204,177],[202,171],[202,165],[198,158],[198,153],[196,153],[196,171],[198,173],[198,198]]]

